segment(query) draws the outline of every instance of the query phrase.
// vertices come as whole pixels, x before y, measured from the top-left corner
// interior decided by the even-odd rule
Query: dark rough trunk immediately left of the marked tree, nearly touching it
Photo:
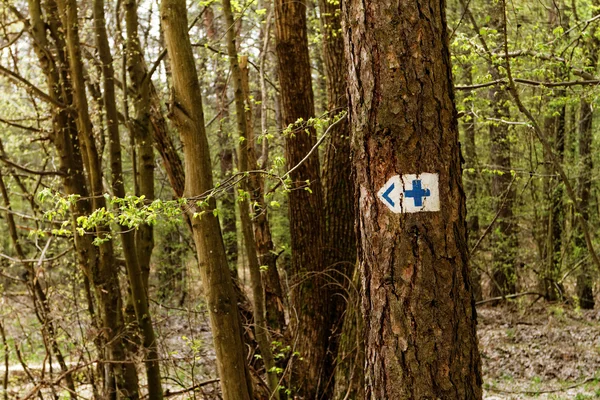
[[[321,32],[323,34],[323,64],[327,88],[327,110],[335,115],[348,107],[346,97],[346,59],[340,18],[340,2],[319,0]],[[350,160],[350,126],[344,119],[329,133],[330,139],[325,148],[323,161],[323,192],[325,198],[325,268],[330,270],[329,307],[327,321],[329,347],[324,376],[328,379],[326,392],[331,392],[338,384],[335,380],[338,346],[341,336],[352,336],[352,332],[342,332],[346,303],[351,298],[350,283],[356,265],[356,236],[354,232],[354,188],[352,185],[352,164]],[[361,344],[362,342],[353,343]],[[348,349],[346,349],[348,350]],[[363,349],[357,349],[361,352]],[[352,358],[346,360],[345,371],[353,370]],[[332,378],[333,376],[333,378]],[[348,381],[346,381],[348,383]],[[343,387],[335,389],[344,392]]]

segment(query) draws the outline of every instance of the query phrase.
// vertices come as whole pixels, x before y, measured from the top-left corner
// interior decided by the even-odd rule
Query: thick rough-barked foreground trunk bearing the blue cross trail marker
[[[445,3],[350,0],[342,14],[365,398],[481,399]],[[438,190],[439,211],[392,214],[377,198],[390,177],[425,172],[439,176],[421,191]],[[418,183],[400,187],[401,210],[419,204]]]

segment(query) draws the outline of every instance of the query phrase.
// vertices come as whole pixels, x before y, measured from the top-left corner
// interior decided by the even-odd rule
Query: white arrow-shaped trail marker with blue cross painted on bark
[[[377,193],[392,212],[415,213],[440,210],[438,174],[394,175]]]

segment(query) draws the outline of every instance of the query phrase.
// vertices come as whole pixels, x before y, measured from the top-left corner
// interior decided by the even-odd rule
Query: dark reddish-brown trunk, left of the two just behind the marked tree
[[[294,0],[275,1],[275,38],[281,86],[284,126],[314,116],[311,66],[308,55],[306,4]],[[305,158],[316,143],[313,128],[294,126],[285,138],[285,158],[291,169]],[[289,221],[292,245],[292,275],[298,285],[291,292],[290,329],[294,351],[303,360],[293,360],[292,382],[305,398],[314,399],[326,385],[324,362],[328,329],[328,293],[321,273],[323,260],[323,191],[319,157],[315,152],[291,175]],[[309,187],[307,186],[307,183]]]

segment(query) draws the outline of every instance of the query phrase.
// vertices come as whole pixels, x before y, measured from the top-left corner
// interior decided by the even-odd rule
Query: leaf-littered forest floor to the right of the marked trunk
[[[478,307],[484,399],[600,399],[600,310]]]

